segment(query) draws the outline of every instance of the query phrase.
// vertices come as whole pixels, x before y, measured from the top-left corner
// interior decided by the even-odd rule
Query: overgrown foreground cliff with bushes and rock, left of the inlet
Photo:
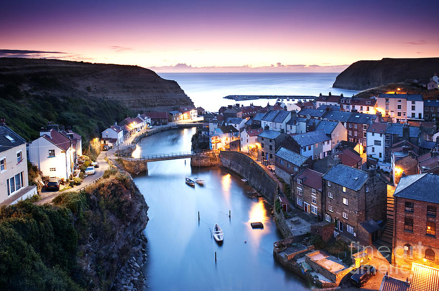
[[[117,170],[54,205],[25,200],[0,209],[4,290],[109,290],[146,226],[148,206]]]

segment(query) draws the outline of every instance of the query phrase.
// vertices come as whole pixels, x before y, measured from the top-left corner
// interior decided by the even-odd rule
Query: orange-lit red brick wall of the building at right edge
[[[405,211],[405,202],[413,202],[413,213]],[[427,260],[425,264],[438,267],[439,265],[439,239],[438,239],[438,216],[427,216],[427,206],[436,206],[439,211],[439,204],[425,201],[411,200],[395,197],[395,238],[394,253],[392,262],[398,266],[407,265],[411,267],[412,262],[424,264],[425,250],[432,249],[435,253],[435,260]],[[439,213],[437,213],[438,215]],[[413,219],[413,231],[404,230],[404,218]],[[436,223],[436,236],[426,233],[427,221]],[[413,255],[404,255],[404,245],[410,244],[413,247]]]

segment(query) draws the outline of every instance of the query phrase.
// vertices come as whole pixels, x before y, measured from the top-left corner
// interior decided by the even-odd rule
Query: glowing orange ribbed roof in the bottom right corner
[[[438,291],[439,290],[439,269],[412,264],[412,281],[407,291]]]

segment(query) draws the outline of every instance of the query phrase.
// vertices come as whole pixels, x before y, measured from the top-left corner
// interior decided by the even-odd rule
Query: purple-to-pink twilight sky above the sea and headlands
[[[0,56],[156,72],[341,72],[439,56],[437,0],[3,1]]]

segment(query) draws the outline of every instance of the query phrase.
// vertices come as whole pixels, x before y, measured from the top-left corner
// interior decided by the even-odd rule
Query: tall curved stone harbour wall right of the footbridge
[[[278,184],[247,155],[236,151],[220,151],[222,166],[232,170],[244,179],[270,203],[274,203]]]

